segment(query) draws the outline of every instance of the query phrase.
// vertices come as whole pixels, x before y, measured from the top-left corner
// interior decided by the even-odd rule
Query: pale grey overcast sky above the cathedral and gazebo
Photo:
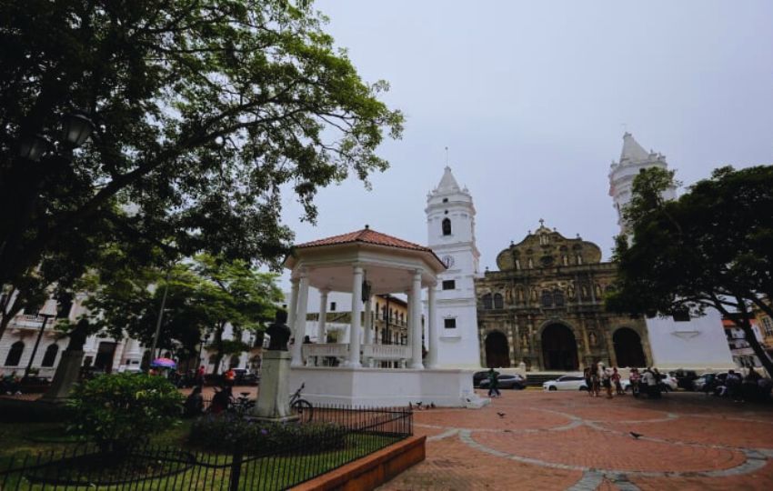
[[[385,79],[406,116],[372,191],[320,191],[316,226],[292,195],[301,243],[363,225],[427,243],[427,192],[444,147],[477,208],[481,267],[539,218],[607,258],[617,218],[609,164],[623,132],[666,155],[686,184],[773,163],[773,2],[323,0],[326,31],[360,75]],[[283,282],[286,286],[286,282]]]

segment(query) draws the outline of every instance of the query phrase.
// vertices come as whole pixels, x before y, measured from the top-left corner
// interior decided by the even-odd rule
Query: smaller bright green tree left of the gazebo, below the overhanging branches
[[[132,336],[145,346],[153,342],[161,296],[167,290],[158,346],[192,355],[202,334],[211,331],[216,370],[223,356],[248,349],[223,339],[226,326],[262,332],[283,298],[276,275],[245,261],[207,255],[171,267],[168,276],[161,268],[110,270],[89,276],[83,287],[92,292],[84,303],[91,332]]]

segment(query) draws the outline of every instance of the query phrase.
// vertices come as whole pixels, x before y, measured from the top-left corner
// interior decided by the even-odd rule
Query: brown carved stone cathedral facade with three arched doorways
[[[604,309],[617,269],[601,262],[597,245],[541,223],[500,252],[497,267],[476,280],[484,366],[573,371],[596,361],[652,363],[645,321]]]

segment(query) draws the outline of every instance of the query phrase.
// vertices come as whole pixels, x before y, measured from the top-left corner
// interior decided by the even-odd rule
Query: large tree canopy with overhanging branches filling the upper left
[[[0,214],[0,285],[73,255],[60,238],[92,224],[170,256],[276,265],[292,238],[281,189],[313,221],[318,187],[386,169],[376,147],[403,122],[377,98],[386,83],[364,83],[299,4],[0,4],[0,209],[18,210]],[[18,155],[78,111],[95,123],[84,146]]]

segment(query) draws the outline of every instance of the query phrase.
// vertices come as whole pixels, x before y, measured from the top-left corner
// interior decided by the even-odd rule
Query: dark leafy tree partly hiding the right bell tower
[[[673,175],[637,175],[624,217],[632,243],[617,237],[617,312],[699,315],[718,310],[743,330],[768,374],[773,362],[752,330],[757,308],[773,316],[773,166],[718,168],[676,201],[660,196]]]

